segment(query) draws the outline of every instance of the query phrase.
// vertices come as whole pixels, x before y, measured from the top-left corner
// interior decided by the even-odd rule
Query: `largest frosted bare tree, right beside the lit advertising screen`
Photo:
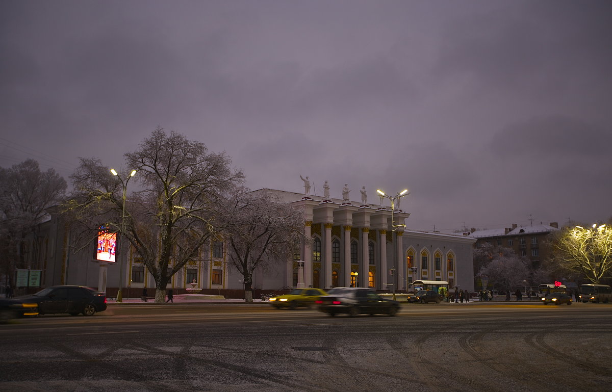
[[[71,176],[75,190],[67,210],[84,227],[84,243],[91,243],[102,224],[121,232],[124,245],[132,245],[155,279],[155,301],[163,302],[171,276],[199,259],[203,245],[222,231],[218,201],[244,176],[225,153],[208,152],[202,142],[162,128],[125,158],[141,187],[125,199],[125,215],[129,174],[113,176],[97,159],[81,158]]]

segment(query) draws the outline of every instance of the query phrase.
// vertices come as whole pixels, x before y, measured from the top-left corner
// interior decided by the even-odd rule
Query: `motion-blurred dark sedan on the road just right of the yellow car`
[[[319,311],[326,312],[329,316],[345,313],[349,316],[358,314],[389,314],[395,316],[400,309],[400,303],[395,300],[383,298],[374,290],[360,287],[338,287],[334,293],[321,297],[316,303]]]

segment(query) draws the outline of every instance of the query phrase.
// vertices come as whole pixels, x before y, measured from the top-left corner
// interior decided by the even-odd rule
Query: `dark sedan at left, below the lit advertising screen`
[[[68,313],[93,316],[106,310],[104,293],[85,286],[51,286],[36,294],[15,298],[21,302],[37,303],[39,314]]]

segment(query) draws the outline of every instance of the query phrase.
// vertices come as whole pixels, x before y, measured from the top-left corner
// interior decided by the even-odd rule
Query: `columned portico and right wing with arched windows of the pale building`
[[[263,190],[258,190],[263,191]],[[282,286],[295,287],[299,262],[304,262],[304,286],[373,287],[410,290],[416,279],[447,281],[450,287],[474,290],[472,245],[465,235],[408,230],[410,215],[384,205],[311,196],[281,190],[265,191],[304,209],[300,254],[288,261]],[[256,191],[257,192],[257,191]],[[266,280],[261,274],[256,281]]]

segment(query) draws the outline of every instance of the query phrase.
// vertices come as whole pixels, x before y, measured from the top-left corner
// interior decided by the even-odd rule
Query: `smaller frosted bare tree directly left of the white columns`
[[[279,201],[271,193],[237,188],[223,203],[223,236],[231,265],[242,275],[245,298],[253,301],[253,272],[286,262],[304,240],[301,209]]]

